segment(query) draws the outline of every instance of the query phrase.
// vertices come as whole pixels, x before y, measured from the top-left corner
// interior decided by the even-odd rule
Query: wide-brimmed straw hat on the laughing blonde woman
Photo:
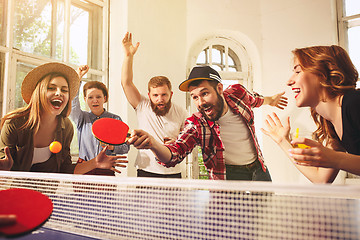
[[[79,76],[76,71],[63,63],[51,62],[34,68],[25,76],[21,85],[21,95],[26,103],[30,102],[31,95],[38,82],[49,73],[60,73],[66,77],[69,84],[69,101],[76,96],[80,85]]]

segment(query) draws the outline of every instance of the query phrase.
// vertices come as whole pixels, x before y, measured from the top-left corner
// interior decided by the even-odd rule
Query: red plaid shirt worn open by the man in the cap
[[[254,113],[252,107],[260,107],[264,98],[257,93],[250,93],[240,84],[229,86],[224,90],[225,100],[233,113],[243,117],[254,141],[258,159],[266,171],[264,157],[255,136]],[[224,145],[220,139],[220,129],[216,122],[206,120],[200,112],[194,113],[186,119],[183,131],[176,142],[166,145],[172,157],[169,162],[160,164],[173,167],[181,162],[195,146],[201,146],[203,161],[209,172],[210,179],[224,180],[226,168],[224,160]]]

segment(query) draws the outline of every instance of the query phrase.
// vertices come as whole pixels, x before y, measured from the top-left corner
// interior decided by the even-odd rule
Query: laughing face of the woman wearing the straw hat
[[[59,76],[50,80],[46,99],[50,113],[59,115],[64,110],[69,101],[69,87],[65,78]]]

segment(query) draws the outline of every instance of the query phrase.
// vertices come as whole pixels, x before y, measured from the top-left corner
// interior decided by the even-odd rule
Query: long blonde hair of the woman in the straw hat
[[[12,120],[27,116],[27,121],[24,123],[23,126],[21,126],[21,129],[34,129],[36,133],[40,127],[40,113],[43,111],[48,111],[50,109],[49,105],[47,104],[46,93],[50,81],[56,77],[63,77],[69,84],[66,77],[61,73],[50,73],[44,76],[36,85],[31,95],[29,104],[26,107],[15,109],[6,114],[1,119],[1,127],[4,125],[6,120]],[[63,117],[67,117],[69,116],[70,112],[71,102],[68,101],[60,115]]]

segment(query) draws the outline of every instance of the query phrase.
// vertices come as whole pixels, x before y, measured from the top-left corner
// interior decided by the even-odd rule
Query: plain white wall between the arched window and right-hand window
[[[311,131],[315,128],[309,109],[295,106],[294,94],[286,86],[292,70],[294,48],[336,44],[336,13],[329,0],[262,0],[262,88],[265,95],[286,91],[289,106],[275,112],[281,119],[290,116],[293,129]],[[264,107],[263,118],[273,108]],[[259,132],[258,132],[259,134]],[[305,177],[267,136],[263,137],[263,152],[274,181],[306,182]]]

